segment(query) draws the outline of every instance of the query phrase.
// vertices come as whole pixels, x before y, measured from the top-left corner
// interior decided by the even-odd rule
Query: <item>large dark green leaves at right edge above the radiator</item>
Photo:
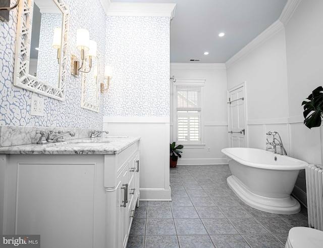
[[[318,86],[306,99],[307,101],[302,103],[302,106],[304,105],[304,124],[309,129],[319,127],[323,117],[323,87]]]

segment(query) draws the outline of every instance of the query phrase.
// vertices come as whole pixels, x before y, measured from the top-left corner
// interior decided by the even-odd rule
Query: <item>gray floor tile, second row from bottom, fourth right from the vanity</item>
[[[239,234],[227,219],[201,219],[208,234]]]

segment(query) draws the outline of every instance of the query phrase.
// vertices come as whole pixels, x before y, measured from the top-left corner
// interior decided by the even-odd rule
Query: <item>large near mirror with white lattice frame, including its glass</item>
[[[19,5],[14,85],[65,100],[69,13],[61,0]],[[37,49],[35,49],[37,48]]]

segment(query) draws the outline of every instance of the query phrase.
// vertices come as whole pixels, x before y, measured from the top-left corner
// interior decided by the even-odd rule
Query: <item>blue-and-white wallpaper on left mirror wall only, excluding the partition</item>
[[[98,50],[104,54],[106,16],[100,1],[66,0],[65,4],[70,11],[68,58],[71,54],[79,55],[75,47],[77,28],[87,28],[90,38],[97,41]],[[13,86],[16,24],[17,9],[10,12],[9,22],[0,21],[0,125],[102,128],[102,95],[99,113],[82,109],[81,76],[70,75],[70,68],[67,68],[70,76],[66,83],[66,101],[38,95],[44,98],[44,116],[30,115],[31,95],[35,93]],[[103,72],[100,77],[103,78]]]

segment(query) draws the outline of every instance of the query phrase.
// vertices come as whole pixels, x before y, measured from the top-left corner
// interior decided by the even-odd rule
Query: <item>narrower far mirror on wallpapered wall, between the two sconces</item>
[[[92,60],[92,68],[88,73],[82,73],[81,107],[99,112],[99,71],[100,55],[96,51],[96,58]],[[88,63],[84,63],[82,71],[89,71]]]

